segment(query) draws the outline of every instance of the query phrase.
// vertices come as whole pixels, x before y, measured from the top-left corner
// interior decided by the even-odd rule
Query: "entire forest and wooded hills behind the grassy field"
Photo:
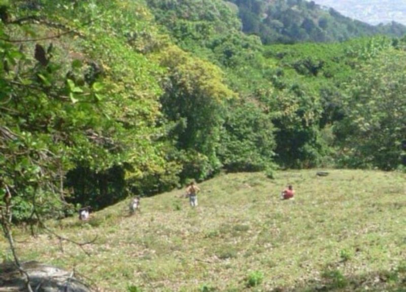
[[[14,222],[221,171],[404,171],[404,26],[300,0],[0,3]]]

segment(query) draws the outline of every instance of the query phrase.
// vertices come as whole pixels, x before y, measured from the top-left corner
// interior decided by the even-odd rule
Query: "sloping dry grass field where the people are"
[[[223,174],[49,225],[80,247],[16,229],[22,260],[75,269],[101,291],[406,291],[406,176],[328,170]],[[287,184],[293,201],[279,196]],[[10,258],[4,238],[0,252]]]

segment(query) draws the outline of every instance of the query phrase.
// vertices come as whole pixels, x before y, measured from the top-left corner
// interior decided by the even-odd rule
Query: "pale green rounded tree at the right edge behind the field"
[[[406,137],[406,53],[388,49],[369,60],[347,85],[339,124],[341,158],[353,167],[394,169]]]

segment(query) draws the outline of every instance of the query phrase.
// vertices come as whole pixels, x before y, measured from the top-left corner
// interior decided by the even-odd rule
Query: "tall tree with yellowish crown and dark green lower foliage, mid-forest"
[[[221,167],[217,148],[224,106],[235,94],[224,85],[220,68],[176,47],[166,48],[160,61],[168,68],[162,111],[175,124],[176,148],[188,157],[183,176],[206,178]],[[198,161],[204,163],[198,166]]]

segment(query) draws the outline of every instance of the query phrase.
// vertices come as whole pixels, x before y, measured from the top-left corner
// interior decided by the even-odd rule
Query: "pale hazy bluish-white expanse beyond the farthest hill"
[[[309,0],[310,1],[310,0]],[[396,21],[406,25],[406,0],[313,0],[341,14],[371,24]]]

